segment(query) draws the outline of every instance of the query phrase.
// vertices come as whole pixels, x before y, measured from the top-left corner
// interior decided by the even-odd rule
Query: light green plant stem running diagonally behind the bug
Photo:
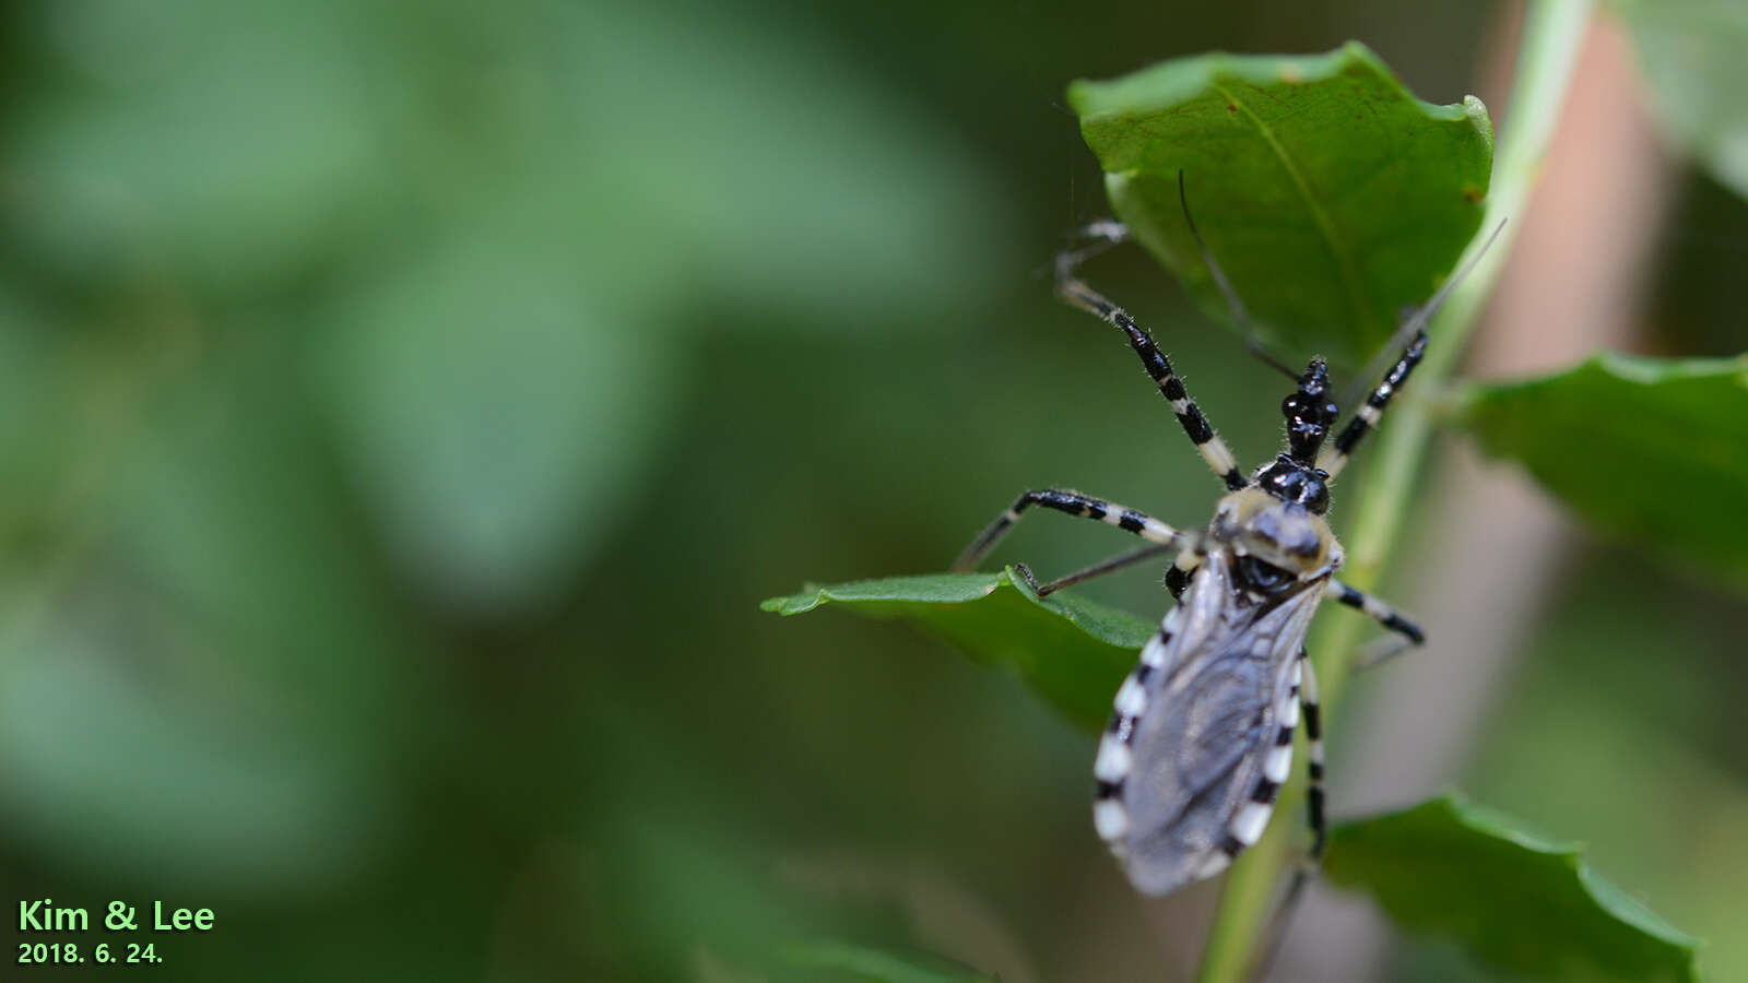
[[[1500,220],[1509,219],[1509,224],[1433,320],[1432,343],[1414,378],[1421,392],[1440,388],[1451,376],[1510,254],[1512,233],[1521,224],[1530,189],[1554,136],[1554,122],[1589,17],[1589,0],[1533,0],[1524,12],[1517,73],[1495,154],[1488,217],[1481,234],[1470,243],[1470,252],[1481,248]],[[1468,254],[1465,262],[1467,259]],[[1342,570],[1346,582],[1370,589],[1377,579],[1390,556],[1390,546],[1402,528],[1409,493],[1419,478],[1430,439],[1432,422],[1414,404],[1398,408],[1379,434],[1376,458],[1351,512],[1355,521],[1348,537],[1348,565]],[[1325,721],[1335,717],[1334,710],[1348,684],[1360,630],[1358,617],[1327,617],[1313,635],[1311,652],[1316,658]],[[1297,819],[1302,799],[1304,787],[1299,778],[1281,794],[1278,812]],[[1276,885],[1288,862],[1292,829],[1297,829],[1297,824],[1269,824],[1262,841],[1232,866],[1196,976],[1199,983],[1241,983],[1250,974],[1257,945],[1274,910]]]

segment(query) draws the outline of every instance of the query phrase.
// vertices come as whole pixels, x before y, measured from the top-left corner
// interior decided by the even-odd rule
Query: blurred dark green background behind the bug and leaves
[[[1208,512],[1120,339],[1037,278],[1105,213],[1070,79],[1356,37],[1456,101],[1496,14],[0,17],[9,910],[213,908],[156,939],[170,980],[764,980],[811,938],[1021,981],[1192,964],[1217,887],[1133,896],[1091,738],[904,626],[757,602],[939,570],[1026,486]],[[1736,353],[1748,208],[1683,180],[1657,345]],[[1140,254],[1098,275],[1271,455],[1278,380]],[[1007,558],[1120,546],[1080,533]],[[1585,549],[1465,785],[1748,976],[1748,617]],[[1162,607],[1150,574],[1089,593]]]

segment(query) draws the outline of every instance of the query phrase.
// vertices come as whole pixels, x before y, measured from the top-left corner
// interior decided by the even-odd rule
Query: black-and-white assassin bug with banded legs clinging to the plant
[[[1178,196],[1234,320],[1239,327],[1248,325],[1243,303],[1189,215],[1182,173]],[[1092,226],[1087,233],[1106,240],[1105,245],[1124,238],[1124,227],[1115,222]],[[1056,294],[1127,336],[1227,493],[1206,528],[1180,530],[1079,492],[1026,492],[965,547],[954,568],[974,568],[1033,505],[1098,519],[1150,544],[1044,586],[1030,568],[1017,565],[1038,595],[1150,556],[1173,554],[1166,588],[1176,603],[1117,691],[1115,710],[1099,740],[1092,766],[1094,827],[1141,894],[1169,894],[1220,873],[1262,838],[1292,766],[1294,729],[1302,712],[1311,757],[1308,808],[1314,862],[1327,829],[1316,673],[1304,647],[1311,616],[1325,596],[1334,596],[1393,631],[1393,651],[1376,654],[1370,663],[1425,640],[1425,633],[1393,607],[1335,579],[1342,549],[1323,519],[1328,483],[1377,427],[1390,399],[1419,364],[1428,318],[1474,261],[1405,318],[1398,332],[1405,345],[1397,362],[1335,436],[1334,446],[1323,446],[1339,418],[1328,366],[1311,359],[1304,373],[1294,373],[1276,364],[1297,387],[1281,402],[1287,451],[1246,478],[1152,336],[1075,276],[1077,266],[1098,248],[1103,247],[1058,257]]]

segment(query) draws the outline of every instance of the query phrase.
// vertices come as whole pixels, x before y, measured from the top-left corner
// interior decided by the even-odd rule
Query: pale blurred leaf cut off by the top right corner
[[[1638,45],[1664,129],[1748,196],[1748,5],[1612,0]]]

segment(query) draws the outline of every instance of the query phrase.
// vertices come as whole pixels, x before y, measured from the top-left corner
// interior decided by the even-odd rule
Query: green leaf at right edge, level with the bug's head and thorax
[[[1748,357],[1603,353],[1477,385],[1460,422],[1603,530],[1748,588]]]

